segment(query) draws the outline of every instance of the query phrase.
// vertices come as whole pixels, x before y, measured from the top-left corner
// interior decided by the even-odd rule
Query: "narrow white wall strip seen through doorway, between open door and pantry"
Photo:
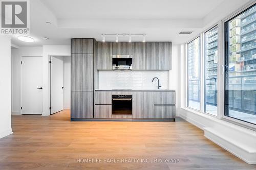
[[[64,64],[64,109],[70,109],[71,94],[71,57],[63,57]]]

